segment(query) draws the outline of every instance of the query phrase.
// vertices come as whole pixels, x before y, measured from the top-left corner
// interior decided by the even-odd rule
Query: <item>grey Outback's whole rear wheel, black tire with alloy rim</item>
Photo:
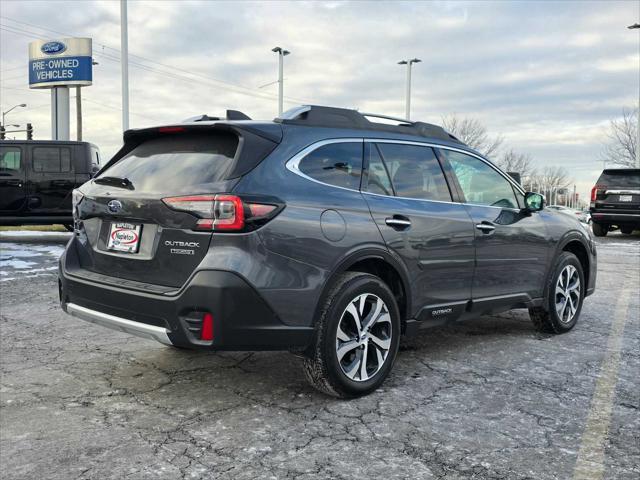
[[[318,308],[315,342],[303,358],[307,379],[336,397],[371,393],[398,353],[400,312],[393,293],[374,275],[347,272]]]

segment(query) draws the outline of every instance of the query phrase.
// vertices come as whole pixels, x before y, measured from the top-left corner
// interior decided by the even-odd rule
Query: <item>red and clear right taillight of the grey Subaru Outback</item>
[[[162,201],[173,210],[198,217],[195,230],[237,232],[270,220],[281,208],[278,204],[243,201],[237,195],[187,195]]]

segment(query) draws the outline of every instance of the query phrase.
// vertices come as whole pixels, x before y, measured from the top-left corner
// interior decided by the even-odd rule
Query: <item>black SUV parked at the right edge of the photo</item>
[[[591,189],[591,227],[604,237],[619,228],[624,234],[640,229],[640,169],[609,168]]]

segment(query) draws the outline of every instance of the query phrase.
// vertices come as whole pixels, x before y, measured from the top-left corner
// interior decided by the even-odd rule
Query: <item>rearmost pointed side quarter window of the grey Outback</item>
[[[298,168],[318,182],[359,190],[362,142],[331,143],[319,147],[300,160]]]

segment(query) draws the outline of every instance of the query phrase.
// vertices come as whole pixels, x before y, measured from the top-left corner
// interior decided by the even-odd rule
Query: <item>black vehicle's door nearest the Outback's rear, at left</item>
[[[28,175],[30,213],[71,215],[75,172],[70,146],[34,145]]]

